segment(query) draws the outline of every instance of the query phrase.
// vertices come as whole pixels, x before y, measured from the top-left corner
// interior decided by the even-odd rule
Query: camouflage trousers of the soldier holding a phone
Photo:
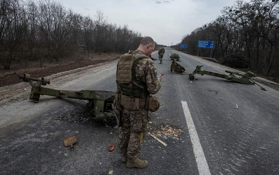
[[[140,135],[145,131],[147,122],[148,111],[145,109],[124,109],[121,112],[118,146],[122,153],[127,153],[128,160],[134,160],[140,155]]]

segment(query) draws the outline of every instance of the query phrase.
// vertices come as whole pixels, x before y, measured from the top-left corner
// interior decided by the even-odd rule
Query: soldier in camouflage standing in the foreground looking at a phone
[[[151,55],[154,47],[154,40],[144,37],[137,50],[122,55],[117,63],[115,100],[119,111],[119,148],[122,151],[121,160],[127,162],[126,166],[129,168],[145,168],[148,164],[146,160],[139,159],[139,154],[149,120],[147,96],[160,90],[161,76],[157,76],[154,62],[147,56]],[[132,74],[130,79],[127,78],[129,72]],[[127,79],[130,80],[127,81],[129,83],[123,83]]]

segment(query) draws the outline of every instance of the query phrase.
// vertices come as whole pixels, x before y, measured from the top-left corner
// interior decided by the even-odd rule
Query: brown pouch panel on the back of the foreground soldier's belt
[[[139,110],[141,108],[145,108],[146,106],[146,99],[144,98],[131,98],[126,95],[120,95],[120,106],[126,110]]]

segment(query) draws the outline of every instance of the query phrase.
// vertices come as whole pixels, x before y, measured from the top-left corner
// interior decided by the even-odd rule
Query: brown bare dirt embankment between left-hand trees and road
[[[91,53],[89,59],[80,57],[61,58],[58,62],[46,62],[43,67],[40,67],[38,61],[27,61],[22,63],[12,63],[10,70],[0,69],[0,87],[17,84],[22,82],[19,79],[20,74],[28,73],[34,78],[49,76],[55,73],[69,71],[76,68],[81,68],[89,65],[103,63],[117,59],[121,54],[103,53],[97,55]]]

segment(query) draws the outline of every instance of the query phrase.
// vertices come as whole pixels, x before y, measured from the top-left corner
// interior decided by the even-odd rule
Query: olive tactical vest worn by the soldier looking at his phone
[[[143,81],[136,79],[135,68],[137,63],[143,58],[149,58],[145,54],[136,54],[139,52],[129,52],[121,55],[118,62],[117,88],[118,93],[131,98],[144,98],[149,95],[147,85]]]

